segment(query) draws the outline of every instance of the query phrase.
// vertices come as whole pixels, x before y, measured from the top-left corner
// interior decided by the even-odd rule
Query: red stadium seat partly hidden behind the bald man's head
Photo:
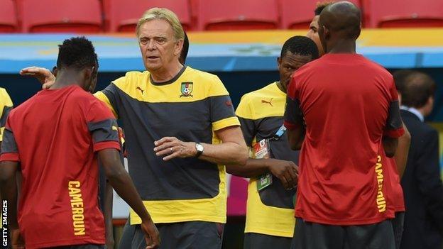
[[[314,10],[319,0],[279,0],[282,28],[307,29],[314,17]],[[361,6],[359,0],[350,0]],[[378,1],[378,0],[377,0]]]

